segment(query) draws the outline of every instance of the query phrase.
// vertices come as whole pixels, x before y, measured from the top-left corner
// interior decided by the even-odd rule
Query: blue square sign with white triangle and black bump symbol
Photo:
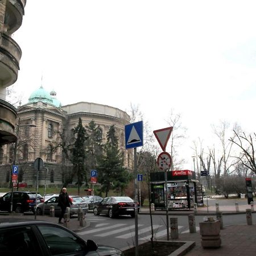
[[[125,148],[143,146],[143,121],[125,126]]]

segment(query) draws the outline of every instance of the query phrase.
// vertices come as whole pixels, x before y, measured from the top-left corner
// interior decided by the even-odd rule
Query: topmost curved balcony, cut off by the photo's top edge
[[[13,34],[22,25],[26,0],[7,0],[5,26],[9,35]]]

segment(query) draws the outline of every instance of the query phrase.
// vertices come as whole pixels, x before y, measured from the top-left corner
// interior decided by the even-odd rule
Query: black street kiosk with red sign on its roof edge
[[[168,209],[191,209],[197,203],[196,174],[190,170],[167,171]],[[151,202],[155,209],[166,209],[164,172],[150,174]]]

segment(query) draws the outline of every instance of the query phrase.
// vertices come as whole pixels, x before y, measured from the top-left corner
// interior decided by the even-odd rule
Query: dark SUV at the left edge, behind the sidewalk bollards
[[[43,202],[43,197],[38,194],[38,203]],[[35,198],[36,192],[24,192],[15,191],[13,192],[13,211],[14,212],[35,212]],[[0,198],[0,210],[7,210],[10,212],[11,209],[11,192],[6,193]]]

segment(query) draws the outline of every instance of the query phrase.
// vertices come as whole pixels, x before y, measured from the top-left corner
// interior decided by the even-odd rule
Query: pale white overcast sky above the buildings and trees
[[[210,125],[255,131],[255,10],[234,0],[28,0],[13,35],[23,52],[15,90],[26,103],[43,75],[62,105],[139,105],[152,131],[174,109],[191,169],[191,141],[210,139]]]

